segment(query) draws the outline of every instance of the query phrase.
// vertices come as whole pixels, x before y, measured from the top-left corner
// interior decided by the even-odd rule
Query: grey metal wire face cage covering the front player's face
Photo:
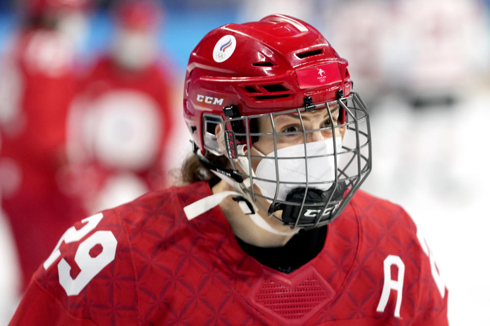
[[[242,190],[291,228],[330,223],[371,172],[369,115],[354,92],[326,103],[305,100],[292,110],[232,116],[222,126],[232,169],[250,179],[250,185],[240,183]],[[269,170],[256,175],[261,160],[268,160]]]

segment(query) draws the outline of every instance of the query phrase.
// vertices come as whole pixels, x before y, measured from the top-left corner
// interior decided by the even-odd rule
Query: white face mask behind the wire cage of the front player
[[[335,144],[337,154],[342,148],[342,138],[336,137]],[[332,182],[335,180],[335,158],[333,150],[333,139],[327,139],[319,142],[311,142],[306,144],[306,152],[308,155],[308,182],[327,182],[323,184],[308,184],[308,188],[321,189],[326,191],[331,187]],[[259,152],[260,155],[263,155]],[[311,157],[318,155],[327,155],[322,157]],[[274,151],[268,153],[266,157],[272,157],[272,159],[263,158],[260,160],[259,165],[255,171],[255,177],[271,180],[262,181],[254,179],[262,195],[269,198],[274,198],[276,194],[276,161],[274,159]],[[305,156],[304,144],[293,145],[284,147],[277,150],[277,157],[300,157]],[[338,155],[337,155],[338,157]],[[304,158],[295,159],[278,159],[278,172],[279,180],[281,182],[301,182],[306,183],[306,165]],[[330,182],[328,182],[330,181]],[[285,200],[287,194],[297,187],[301,187],[300,184],[288,184],[280,183],[277,199]],[[267,199],[272,203],[272,200]]]

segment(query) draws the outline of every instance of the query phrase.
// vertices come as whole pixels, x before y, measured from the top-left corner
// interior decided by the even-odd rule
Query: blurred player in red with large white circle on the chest
[[[170,86],[169,65],[160,65],[161,6],[118,2],[113,19],[111,48],[83,80],[69,117],[69,191],[91,213],[167,185],[169,106],[180,94]]]

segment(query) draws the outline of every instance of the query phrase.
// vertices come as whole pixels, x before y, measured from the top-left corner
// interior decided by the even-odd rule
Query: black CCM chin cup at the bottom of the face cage
[[[330,196],[333,191],[333,185],[327,189],[326,191],[322,191],[316,188],[308,188],[308,192],[306,193],[305,204],[303,206],[303,210],[300,214],[301,203],[303,202],[303,198],[305,196],[306,188],[298,187],[292,189],[286,196],[287,202],[298,203],[299,205],[292,204],[284,204],[284,203],[276,203],[273,206],[269,207],[269,214],[273,213],[277,210],[282,210],[282,221],[284,224],[293,225],[296,224],[296,220],[298,219],[298,214],[300,214],[300,218],[298,221],[298,225],[304,224],[312,224],[315,223],[316,216],[323,209],[325,203],[330,199]],[[320,221],[328,221],[330,222],[333,218],[332,211],[337,207],[337,204],[342,197],[344,196],[345,191],[347,190],[347,185],[345,182],[340,182],[337,184],[335,188],[335,192],[333,193],[330,202],[332,205],[328,205],[327,208],[322,212],[322,217]]]

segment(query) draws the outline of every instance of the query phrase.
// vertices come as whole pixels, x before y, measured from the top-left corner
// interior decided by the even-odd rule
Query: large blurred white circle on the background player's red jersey
[[[158,159],[160,106],[150,96],[113,90],[97,98],[85,120],[85,144],[106,167],[140,171]]]

